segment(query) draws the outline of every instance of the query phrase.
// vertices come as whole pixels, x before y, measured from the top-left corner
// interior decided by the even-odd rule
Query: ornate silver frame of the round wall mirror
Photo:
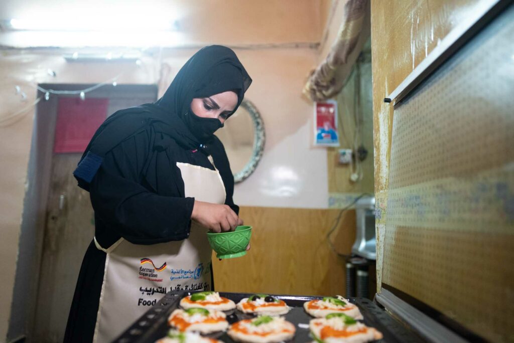
[[[261,160],[264,151],[264,143],[266,142],[264,122],[262,120],[261,114],[255,108],[255,105],[253,105],[251,101],[243,99],[243,102],[240,106],[250,113],[253,122],[254,138],[250,161],[245,164],[240,172],[234,174],[234,183],[239,183],[245,180],[254,172],[255,168],[259,164],[259,161]]]

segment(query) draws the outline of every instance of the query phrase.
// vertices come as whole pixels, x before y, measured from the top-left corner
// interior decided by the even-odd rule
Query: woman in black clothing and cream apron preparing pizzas
[[[232,50],[205,47],[156,103],[118,111],[97,130],[74,172],[90,193],[95,237],[65,341],[111,341],[164,293],[213,289],[206,228],[242,223],[213,134],[250,83]]]

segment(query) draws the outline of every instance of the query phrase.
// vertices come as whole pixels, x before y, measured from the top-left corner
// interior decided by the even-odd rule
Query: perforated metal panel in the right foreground
[[[514,339],[514,8],[394,111],[382,282]]]

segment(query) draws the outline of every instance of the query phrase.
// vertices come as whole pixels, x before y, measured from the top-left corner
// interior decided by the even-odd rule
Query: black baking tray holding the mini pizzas
[[[168,317],[173,310],[179,307],[179,301],[185,296],[194,292],[171,291],[150,308],[145,314],[137,319],[125,332],[123,332],[113,343],[153,343],[159,338],[166,336],[168,330]],[[247,298],[252,293],[226,293],[219,292],[219,295],[233,300],[235,303],[243,298]],[[290,342],[311,342],[309,336],[308,323],[313,317],[305,313],[303,303],[313,299],[321,299],[315,296],[293,296],[270,294],[273,297],[284,300],[291,310],[285,315],[286,320],[293,323],[296,327],[295,337]],[[392,317],[378,305],[366,298],[350,298],[350,302],[357,305],[365,325],[373,327],[382,332],[383,339],[376,340],[377,343],[418,343],[424,342],[419,336],[415,335],[407,326]],[[253,315],[242,313],[238,310],[226,311],[227,321],[231,324],[238,320],[253,318]],[[207,335],[227,343],[234,341],[226,332]]]

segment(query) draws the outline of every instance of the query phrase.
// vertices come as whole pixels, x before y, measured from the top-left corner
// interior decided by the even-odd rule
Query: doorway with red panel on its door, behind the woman
[[[71,91],[89,86],[40,85]],[[45,99],[45,94],[40,91],[38,97]],[[38,103],[10,337],[36,342],[63,340],[82,258],[95,227],[89,194],[77,186],[72,175],[85,148],[83,131],[94,132],[119,109],[156,99],[156,85],[108,85],[86,93],[85,100],[77,94],[50,94],[47,101]]]

